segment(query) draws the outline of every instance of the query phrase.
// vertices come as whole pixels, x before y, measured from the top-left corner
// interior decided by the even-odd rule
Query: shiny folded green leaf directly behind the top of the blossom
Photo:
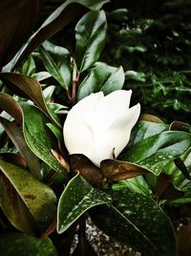
[[[99,91],[103,91],[104,95],[108,95],[122,89],[123,83],[124,72],[122,67],[117,69],[105,63],[97,62],[89,75],[80,83],[77,91],[77,100]]]

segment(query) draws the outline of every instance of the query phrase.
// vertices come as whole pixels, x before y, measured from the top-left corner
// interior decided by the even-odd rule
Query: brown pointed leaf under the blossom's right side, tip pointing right
[[[148,171],[134,163],[122,160],[102,160],[100,170],[108,181],[121,181],[143,175]]]

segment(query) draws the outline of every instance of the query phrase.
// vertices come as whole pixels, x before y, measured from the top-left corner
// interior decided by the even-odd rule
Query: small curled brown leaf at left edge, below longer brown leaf
[[[20,105],[11,96],[0,93],[0,108],[13,117],[17,123],[23,123],[23,112]]]

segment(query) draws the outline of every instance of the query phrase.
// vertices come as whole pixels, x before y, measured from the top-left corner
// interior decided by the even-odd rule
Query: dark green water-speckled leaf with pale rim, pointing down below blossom
[[[63,233],[88,209],[104,203],[111,203],[110,196],[97,190],[77,174],[69,181],[59,199],[57,232]]]

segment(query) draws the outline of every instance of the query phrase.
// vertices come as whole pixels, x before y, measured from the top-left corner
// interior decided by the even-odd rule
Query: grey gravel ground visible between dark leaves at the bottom
[[[104,234],[95,224],[89,219],[86,224],[86,236],[94,247],[97,256],[140,256],[139,252],[133,251],[127,245],[121,245],[114,239]],[[71,253],[74,251],[74,247],[77,244],[77,235],[74,237],[74,245]]]

